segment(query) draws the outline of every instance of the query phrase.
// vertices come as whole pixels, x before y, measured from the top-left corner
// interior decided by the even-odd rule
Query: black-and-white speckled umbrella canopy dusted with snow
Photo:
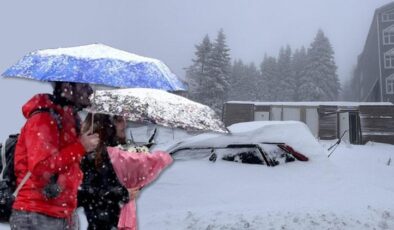
[[[186,130],[226,132],[208,106],[157,89],[98,90],[90,111]]]

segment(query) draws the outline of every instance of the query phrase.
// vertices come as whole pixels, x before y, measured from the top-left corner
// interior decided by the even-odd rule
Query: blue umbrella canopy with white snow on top
[[[2,75],[124,88],[186,90],[184,84],[160,60],[102,44],[35,51],[24,56]]]

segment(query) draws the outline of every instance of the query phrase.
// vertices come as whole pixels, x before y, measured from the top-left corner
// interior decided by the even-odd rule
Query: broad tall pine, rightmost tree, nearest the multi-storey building
[[[308,63],[300,86],[300,99],[333,101],[337,100],[340,83],[334,61],[334,51],[322,30],[308,50]]]

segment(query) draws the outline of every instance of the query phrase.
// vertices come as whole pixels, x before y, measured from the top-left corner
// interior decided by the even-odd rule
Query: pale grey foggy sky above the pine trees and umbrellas
[[[389,0],[1,0],[0,72],[37,49],[103,43],[163,60],[181,78],[205,34],[223,28],[231,57],[260,65],[281,46],[329,38],[341,80],[351,75],[374,10]],[[48,84],[0,78],[0,138],[19,132],[22,104]],[[13,122],[9,122],[13,120]],[[11,124],[10,124],[11,123]],[[17,126],[17,127],[15,127]]]

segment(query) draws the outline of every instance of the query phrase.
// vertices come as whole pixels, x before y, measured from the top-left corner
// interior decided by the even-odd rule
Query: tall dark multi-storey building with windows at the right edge
[[[394,102],[394,2],[375,10],[353,85],[360,101]]]

